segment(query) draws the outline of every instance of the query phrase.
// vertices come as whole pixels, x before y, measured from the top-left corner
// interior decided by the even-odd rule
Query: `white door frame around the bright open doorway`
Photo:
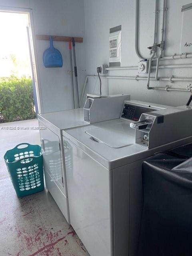
[[[34,28],[34,15],[33,10],[30,8],[20,8],[20,7],[11,7],[11,6],[0,6],[0,12],[13,12],[13,13],[21,13],[28,14],[29,20],[29,35],[30,35],[30,47],[29,51],[31,51],[32,56],[32,72],[34,73],[34,83],[36,88],[36,96],[37,96],[37,104],[39,113],[43,113],[43,101],[42,101],[42,92],[40,86],[40,72],[38,66],[38,55],[37,55],[37,47],[36,47],[36,36],[35,36],[35,28]]]

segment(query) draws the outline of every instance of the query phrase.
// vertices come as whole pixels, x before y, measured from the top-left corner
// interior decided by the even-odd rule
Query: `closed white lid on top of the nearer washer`
[[[104,128],[86,130],[94,140],[111,148],[123,148],[135,143],[135,130],[129,122],[120,122]]]

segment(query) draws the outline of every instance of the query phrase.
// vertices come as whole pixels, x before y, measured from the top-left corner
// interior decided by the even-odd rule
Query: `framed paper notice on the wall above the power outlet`
[[[120,66],[122,55],[121,25],[110,28],[109,66]]]

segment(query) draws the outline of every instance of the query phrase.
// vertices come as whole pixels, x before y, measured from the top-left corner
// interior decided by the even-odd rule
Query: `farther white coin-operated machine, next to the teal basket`
[[[86,106],[86,112],[90,112],[88,116],[91,120],[86,121],[83,108],[38,114],[46,187],[69,224],[70,212],[62,130],[87,126],[90,121],[98,122],[107,118],[117,118],[125,99],[130,99],[130,95],[88,95],[86,102],[89,102],[89,105]],[[98,115],[101,107],[102,114]],[[108,108],[113,109],[110,116],[105,114]]]

